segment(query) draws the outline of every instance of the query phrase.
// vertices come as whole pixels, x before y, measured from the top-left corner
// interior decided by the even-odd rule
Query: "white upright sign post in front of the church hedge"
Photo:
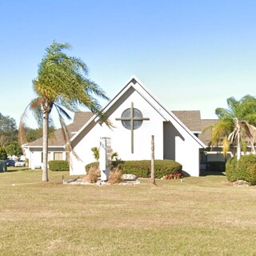
[[[99,170],[101,170],[101,180],[107,181],[111,167],[111,140],[101,137],[99,146]]]

